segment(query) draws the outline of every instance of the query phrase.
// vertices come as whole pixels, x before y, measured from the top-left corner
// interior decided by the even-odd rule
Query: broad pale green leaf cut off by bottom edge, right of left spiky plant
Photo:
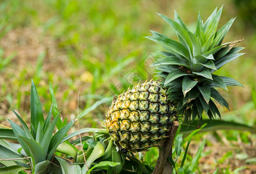
[[[81,167],[79,165],[72,164],[71,162],[64,160],[60,157],[55,157],[57,161],[59,161],[60,166],[62,168],[62,173],[63,174],[81,174]]]

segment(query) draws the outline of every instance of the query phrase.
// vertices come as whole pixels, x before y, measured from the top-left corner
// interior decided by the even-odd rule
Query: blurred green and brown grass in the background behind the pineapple
[[[30,118],[31,79],[37,85],[38,93],[45,94],[41,96],[44,109],[51,106],[48,86],[52,83],[58,107],[62,109],[61,116],[71,120],[77,115],[78,92],[78,107],[82,112],[96,101],[117,95],[140,79],[153,77],[148,66],[158,55],[155,51],[162,48],[143,37],[150,35],[149,30],[172,37],[175,34],[155,12],[172,17],[176,10],[193,28],[198,10],[202,16],[208,16],[222,3],[201,0],[2,1],[0,123],[8,125],[5,118],[14,118],[10,107],[19,111],[25,120]],[[230,112],[222,109],[221,113],[223,119],[255,126],[256,34],[253,28],[243,23],[239,12],[232,0],[225,1],[221,24],[237,16],[226,41],[244,38],[239,46],[246,47],[247,54],[219,70],[219,74],[237,79],[245,88],[229,88],[228,93],[219,90],[231,106]],[[109,103],[103,103],[85,115],[81,126],[95,126],[95,122],[104,119],[107,107]],[[194,146],[200,144],[201,136],[194,138]],[[255,136],[249,132],[217,131],[203,133],[203,137],[214,137],[205,142],[207,147],[217,148],[216,144],[241,147],[232,151],[237,154],[244,151],[244,146],[255,147]],[[230,159],[236,159],[235,154],[222,155],[219,161],[225,163],[226,160],[226,164],[232,162]],[[256,157],[249,156],[248,159]],[[217,160],[212,165],[219,163]],[[232,171],[233,167],[230,168]]]

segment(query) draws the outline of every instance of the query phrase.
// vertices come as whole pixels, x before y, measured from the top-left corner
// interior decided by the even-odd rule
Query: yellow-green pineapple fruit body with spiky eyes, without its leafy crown
[[[110,136],[120,148],[143,151],[159,146],[176,119],[174,104],[159,82],[137,84],[113,100],[106,115]]]

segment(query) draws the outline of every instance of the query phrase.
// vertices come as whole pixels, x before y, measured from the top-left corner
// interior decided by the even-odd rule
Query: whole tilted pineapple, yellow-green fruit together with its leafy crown
[[[191,32],[175,12],[174,20],[159,14],[176,31],[178,41],[151,31],[146,37],[164,46],[166,51],[152,67],[161,81],[135,85],[114,99],[106,114],[106,126],[118,147],[127,151],[144,151],[160,146],[172,122],[202,121],[202,114],[221,117],[215,103],[229,109],[229,104],[215,89],[242,86],[235,79],[213,74],[229,61],[243,55],[235,47],[241,40],[222,44],[235,19],[217,30],[222,8],[217,8],[203,23],[200,13],[196,29]]]

